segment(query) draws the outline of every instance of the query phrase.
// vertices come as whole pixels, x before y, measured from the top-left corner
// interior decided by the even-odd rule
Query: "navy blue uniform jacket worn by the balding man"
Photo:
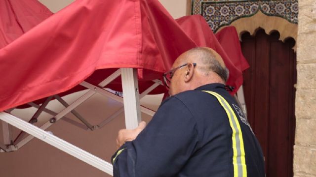
[[[222,84],[208,84],[163,101],[137,138],[113,155],[114,177],[233,177],[228,116],[216,97],[201,90],[217,92],[231,105],[242,132],[247,177],[264,177],[262,149]]]

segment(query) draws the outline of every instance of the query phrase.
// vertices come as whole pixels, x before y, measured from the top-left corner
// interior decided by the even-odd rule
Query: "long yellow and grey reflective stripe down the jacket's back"
[[[205,91],[205,90],[203,90]],[[247,167],[245,160],[245,151],[242,138],[242,132],[239,121],[235,112],[233,111],[230,104],[218,93],[213,91],[205,91],[217,98],[222,107],[224,108],[229,123],[233,131],[232,142],[233,142],[233,165],[234,165],[234,177],[247,177]]]

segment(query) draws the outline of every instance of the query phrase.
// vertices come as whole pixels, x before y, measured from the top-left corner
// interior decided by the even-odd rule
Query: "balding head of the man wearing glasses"
[[[197,63],[196,66],[194,63]],[[184,66],[179,68],[182,65]],[[175,60],[172,68],[177,70],[174,71],[170,82],[170,95],[206,84],[225,84],[228,79],[228,70],[223,59],[207,47],[197,47],[183,53]]]

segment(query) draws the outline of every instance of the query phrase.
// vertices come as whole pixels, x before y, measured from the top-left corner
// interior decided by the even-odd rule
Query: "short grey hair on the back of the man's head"
[[[209,71],[213,71],[218,74],[225,82],[228,80],[229,70],[226,67],[223,67],[221,63],[216,59],[216,56],[212,53],[211,50],[203,47],[197,47],[191,49],[187,53],[187,58],[196,58],[198,61],[201,61],[203,65],[198,65],[204,74],[207,76]]]

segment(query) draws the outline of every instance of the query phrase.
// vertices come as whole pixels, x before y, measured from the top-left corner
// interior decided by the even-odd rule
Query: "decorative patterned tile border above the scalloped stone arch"
[[[191,9],[191,14],[202,15],[216,32],[239,18],[255,15],[259,10],[297,24],[298,0],[192,0]]]

